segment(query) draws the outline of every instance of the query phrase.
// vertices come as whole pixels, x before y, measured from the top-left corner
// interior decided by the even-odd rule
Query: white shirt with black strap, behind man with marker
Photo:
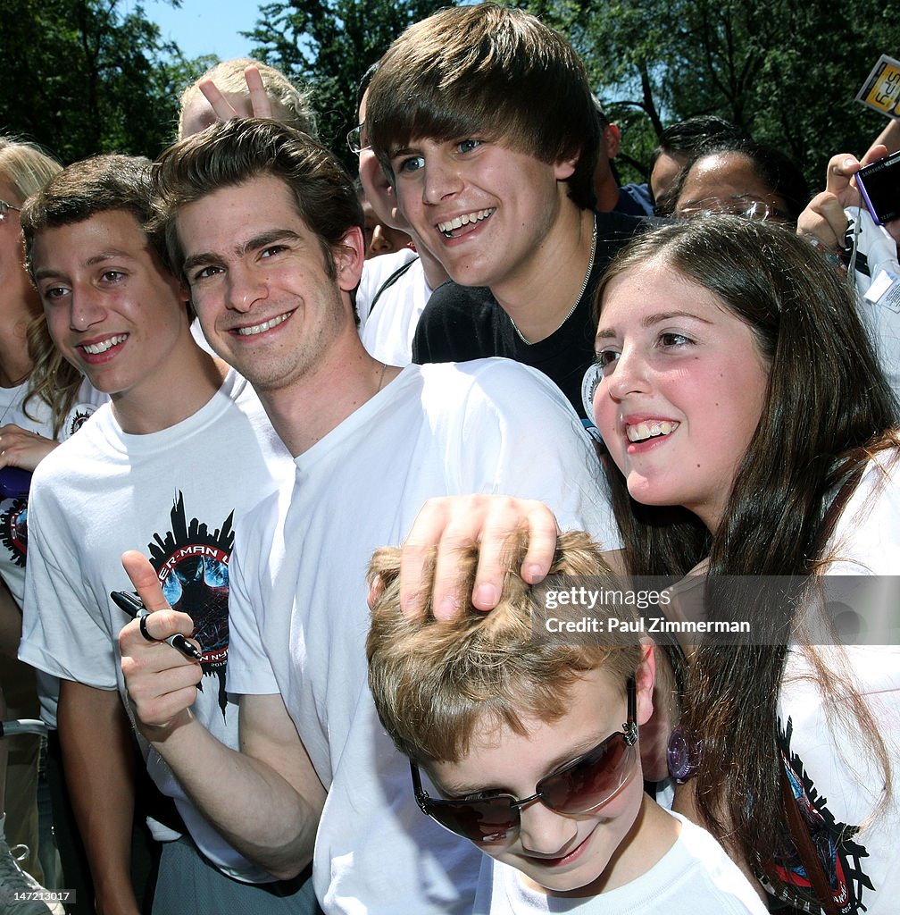
[[[404,264],[409,264],[407,269],[382,289]],[[375,359],[388,365],[409,365],[413,361],[415,328],[431,294],[422,261],[409,248],[371,257],[357,290],[362,345]]]

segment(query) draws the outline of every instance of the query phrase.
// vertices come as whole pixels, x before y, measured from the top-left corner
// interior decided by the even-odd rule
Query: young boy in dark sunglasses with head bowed
[[[474,915],[765,915],[712,835],[643,791],[638,735],[653,710],[655,664],[652,646],[620,625],[636,626],[635,608],[541,602],[550,588],[621,593],[623,582],[588,536],[570,532],[532,595],[518,576],[525,535],[509,545],[489,614],[469,605],[440,623],[404,615],[400,550],[380,550],[370,573],[384,587],[367,644],[372,696],[410,757],[406,791],[488,856]],[[466,593],[477,559],[474,545],[461,551]],[[585,620],[590,635],[567,631]],[[557,909],[554,896],[570,899]]]

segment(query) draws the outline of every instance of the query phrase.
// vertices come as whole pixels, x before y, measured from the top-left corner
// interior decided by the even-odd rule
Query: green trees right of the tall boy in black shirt
[[[719,114],[792,156],[814,186],[836,152],[858,155],[885,125],[853,98],[882,53],[900,53],[884,0],[531,0],[582,54],[646,163],[665,124]]]

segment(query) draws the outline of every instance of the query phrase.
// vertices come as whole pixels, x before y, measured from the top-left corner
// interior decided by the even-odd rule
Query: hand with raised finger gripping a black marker
[[[148,641],[133,619],[119,633],[122,673],[142,733],[150,740],[163,739],[174,727],[190,720],[188,709],[197,698],[197,684],[203,671],[196,662],[164,639],[180,632],[189,637],[193,620],[177,613],[166,603],[159,578],[144,555],[132,550],[123,554],[122,565],[137,589],[145,608]]]

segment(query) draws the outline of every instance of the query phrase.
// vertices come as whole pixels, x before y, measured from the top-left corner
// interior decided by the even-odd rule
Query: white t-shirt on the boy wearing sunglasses
[[[766,915],[766,906],[722,845],[700,826],[681,822],[675,844],[646,874],[623,887],[575,899],[526,886],[520,871],[484,856],[472,915]]]

